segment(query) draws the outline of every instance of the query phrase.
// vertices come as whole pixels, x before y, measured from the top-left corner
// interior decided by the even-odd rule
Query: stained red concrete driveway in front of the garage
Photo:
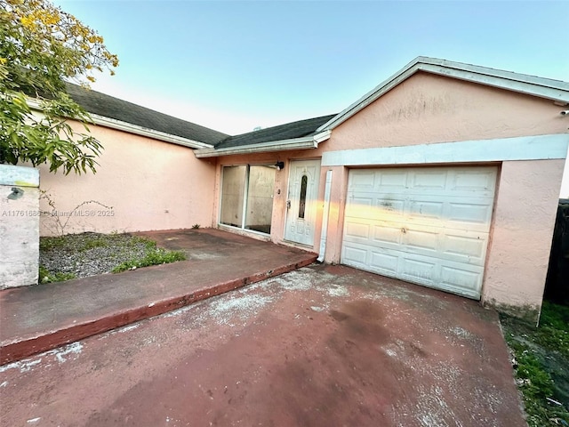
[[[524,426],[498,316],[314,265],[0,367],[1,425]]]

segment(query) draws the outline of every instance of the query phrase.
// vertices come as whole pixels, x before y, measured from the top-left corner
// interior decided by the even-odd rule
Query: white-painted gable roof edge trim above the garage
[[[321,125],[317,129],[318,132],[332,131],[334,127],[341,125],[341,123],[348,120],[349,117],[365,109],[365,107],[373,101],[376,101],[382,95],[388,93],[391,89],[420,71],[439,76],[458,78],[468,82],[493,86],[517,93],[525,93],[551,101],[569,103],[569,83],[561,80],[528,76],[512,71],[419,56],[409,62],[404,68],[397,71],[396,74],[376,86],[371,92],[366,93],[362,98],[351,104],[347,109],[341,111],[340,114],[333,117],[324,125]]]

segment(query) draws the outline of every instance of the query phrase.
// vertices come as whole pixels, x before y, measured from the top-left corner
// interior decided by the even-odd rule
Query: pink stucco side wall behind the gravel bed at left
[[[89,200],[113,209],[109,214],[101,205],[83,205],[64,233],[169,230],[196,223],[211,227],[214,161],[198,160],[192,149],[168,142],[103,126],[90,128],[105,148],[97,173],[65,176],[41,166],[40,189],[50,195],[60,216]],[[41,208],[52,211],[46,200]],[[60,221],[67,219],[61,216]],[[41,234],[56,234],[55,225],[54,218],[44,216]]]

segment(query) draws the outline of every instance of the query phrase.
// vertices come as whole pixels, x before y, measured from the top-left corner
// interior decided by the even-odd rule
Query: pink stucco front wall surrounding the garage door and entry
[[[318,149],[220,157],[216,182],[219,185],[221,165],[284,160],[285,169],[276,173],[271,231],[273,241],[284,243],[290,159],[317,158],[325,151],[342,149],[557,133],[566,133],[566,120],[559,115],[559,107],[552,101],[419,73],[335,128],[331,139],[321,143]],[[495,196],[482,299],[504,310],[525,307],[529,318],[534,319],[541,307],[564,160],[505,161],[497,164],[501,173]],[[472,165],[485,164],[477,162]],[[333,171],[333,184],[325,261],[340,262],[349,165],[322,167],[318,193],[320,207],[323,205],[327,170]],[[278,189],[281,189],[280,195],[277,194]],[[218,203],[219,190],[216,190],[215,200]],[[216,210],[217,206],[213,223],[217,223]],[[322,209],[318,222],[321,218]],[[315,251],[319,248],[321,225],[319,223],[317,227]]]

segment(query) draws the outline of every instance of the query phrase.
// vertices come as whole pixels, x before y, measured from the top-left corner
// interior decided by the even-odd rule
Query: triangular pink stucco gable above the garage
[[[566,133],[553,101],[418,73],[333,130],[327,150]]]

